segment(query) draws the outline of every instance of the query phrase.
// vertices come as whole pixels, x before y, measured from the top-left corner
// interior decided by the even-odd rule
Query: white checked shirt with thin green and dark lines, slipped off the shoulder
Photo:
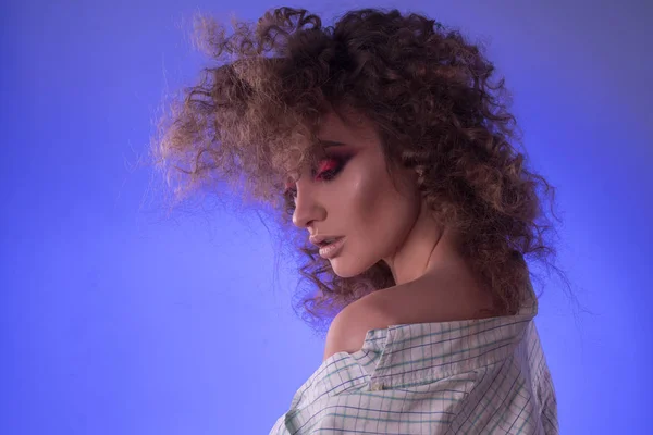
[[[271,435],[557,434],[529,286],[512,316],[392,325],[329,357]]]

